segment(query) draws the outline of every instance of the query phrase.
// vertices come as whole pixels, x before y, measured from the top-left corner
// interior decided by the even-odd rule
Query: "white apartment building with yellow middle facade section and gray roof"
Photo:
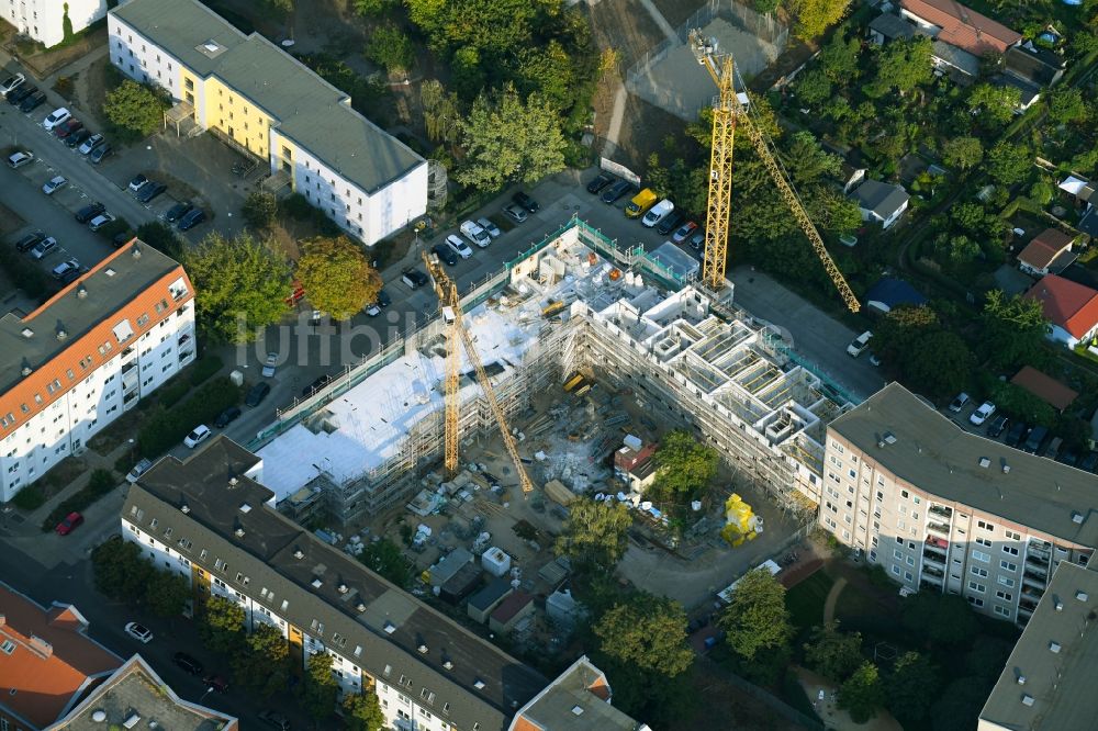
[[[166,89],[199,127],[262,160],[352,238],[372,246],[426,212],[426,160],[258,33],[198,0],[128,0],[108,29],[123,74]]]

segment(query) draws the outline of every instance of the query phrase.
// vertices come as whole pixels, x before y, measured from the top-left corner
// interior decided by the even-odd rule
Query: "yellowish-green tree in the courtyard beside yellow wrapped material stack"
[[[631,525],[632,516],[623,503],[576,498],[568,506],[557,553],[586,570],[614,571],[629,547],[626,531]]]

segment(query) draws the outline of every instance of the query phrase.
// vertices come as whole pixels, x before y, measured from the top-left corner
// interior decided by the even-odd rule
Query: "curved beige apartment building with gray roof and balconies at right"
[[[898,383],[828,427],[819,522],[912,591],[1026,623],[1098,546],[1098,477],[970,434]]]

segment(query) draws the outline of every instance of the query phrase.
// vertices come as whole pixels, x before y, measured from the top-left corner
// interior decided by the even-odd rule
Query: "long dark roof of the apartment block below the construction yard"
[[[485,731],[503,728],[545,687],[533,668],[269,507],[273,493],[239,476],[257,459],[221,436],[184,462],[166,457],[130,488],[122,517],[150,536],[170,530],[171,542],[186,539],[178,548],[192,562],[229,588],[268,603],[370,675],[394,686],[405,677],[403,691],[415,698],[424,688],[434,693],[436,712],[460,729],[474,722]],[[243,510],[244,504],[250,509]],[[206,558],[200,559],[203,550]],[[215,569],[217,559],[227,562],[227,572]],[[262,587],[271,593],[266,599]],[[417,651],[422,644],[427,654]],[[444,668],[446,661],[451,670]],[[482,689],[474,687],[478,681]]]

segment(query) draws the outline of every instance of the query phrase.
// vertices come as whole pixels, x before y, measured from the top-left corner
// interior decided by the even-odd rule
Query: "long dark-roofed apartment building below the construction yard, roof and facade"
[[[303,670],[327,652],[343,694],[376,693],[386,728],[502,731],[547,681],[273,509],[264,464],[225,437],[166,457],[128,490],[122,535],[195,598],[277,628]]]

